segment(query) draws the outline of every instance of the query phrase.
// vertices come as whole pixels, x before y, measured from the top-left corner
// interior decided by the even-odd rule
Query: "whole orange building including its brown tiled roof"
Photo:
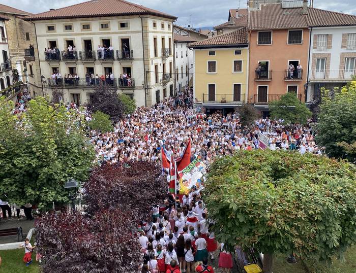
[[[309,29],[307,3],[261,5],[249,13],[249,103],[265,114],[269,103],[287,92],[304,99]]]

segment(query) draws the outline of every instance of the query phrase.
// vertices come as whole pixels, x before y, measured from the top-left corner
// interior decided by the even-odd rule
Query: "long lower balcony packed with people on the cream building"
[[[102,85],[110,85],[117,86],[116,79],[105,79],[102,81],[101,79],[85,79],[84,78],[64,78],[61,80],[53,80],[52,78],[47,78],[48,87],[58,87],[58,88],[91,88],[93,89],[95,86]]]

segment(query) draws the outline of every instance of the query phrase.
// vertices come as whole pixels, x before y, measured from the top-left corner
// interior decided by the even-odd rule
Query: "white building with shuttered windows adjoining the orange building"
[[[341,88],[356,75],[356,16],[342,17],[350,25],[311,28],[307,101],[320,95],[320,88]]]

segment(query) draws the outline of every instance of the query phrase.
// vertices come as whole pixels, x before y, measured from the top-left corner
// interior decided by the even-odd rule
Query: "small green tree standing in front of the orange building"
[[[285,123],[305,124],[312,116],[305,103],[299,101],[294,93],[284,94],[280,100],[272,101],[270,110],[272,119],[283,119]]]

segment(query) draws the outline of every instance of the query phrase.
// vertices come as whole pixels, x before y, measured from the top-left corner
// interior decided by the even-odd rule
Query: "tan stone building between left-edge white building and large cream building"
[[[9,18],[6,21],[9,52],[13,69],[17,70],[18,80],[28,83],[32,95],[43,95],[39,70],[35,26],[24,20],[31,13],[0,4],[0,14]],[[31,45],[31,48],[30,48]],[[15,79],[17,80],[17,79]]]

